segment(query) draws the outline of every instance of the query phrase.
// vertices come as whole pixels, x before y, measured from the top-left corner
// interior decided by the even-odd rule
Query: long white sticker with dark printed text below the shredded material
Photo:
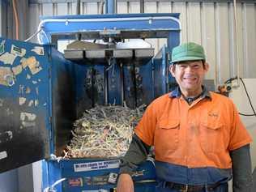
[[[119,160],[105,160],[105,161],[74,164],[74,171],[86,172],[86,171],[94,171],[94,170],[100,170],[100,169],[115,169],[115,168],[119,168],[119,164],[120,164]]]

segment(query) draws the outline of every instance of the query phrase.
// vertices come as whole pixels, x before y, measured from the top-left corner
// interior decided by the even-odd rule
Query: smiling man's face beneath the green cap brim
[[[203,61],[178,62],[169,70],[181,88],[181,92],[198,92],[201,90],[204,75],[209,69]]]

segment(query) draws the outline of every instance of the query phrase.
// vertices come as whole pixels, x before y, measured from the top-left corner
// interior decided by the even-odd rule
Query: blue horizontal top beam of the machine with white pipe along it
[[[41,44],[49,44],[53,34],[77,32],[102,32],[121,30],[123,32],[166,31],[179,32],[179,14],[119,14],[119,15],[65,15],[43,17],[38,29]],[[161,33],[158,37],[163,36]],[[70,36],[66,36],[70,38]],[[175,36],[175,38],[177,38]],[[179,37],[178,37],[179,38]],[[169,44],[171,44],[169,42]]]

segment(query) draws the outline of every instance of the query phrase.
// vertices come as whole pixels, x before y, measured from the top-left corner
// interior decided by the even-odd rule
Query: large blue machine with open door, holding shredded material
[[[178,19],[178,14],[44,17],[40,44],[0,38],[0,172],[44,159],[45,191],[115,191],[118,159],[56,156],[62,156],[73,122],[86,109],[124,102],[134,109],[173,88],[169,51],[180,42]],[[147,39],[166,44],[155,53]],[[155,191],[154,160],[139,165],[133,179],[135,191]]]

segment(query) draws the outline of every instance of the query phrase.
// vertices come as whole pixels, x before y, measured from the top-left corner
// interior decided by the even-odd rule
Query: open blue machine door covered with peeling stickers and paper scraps
[[[0,172],[49,156],[49,46],[0,38]]]

